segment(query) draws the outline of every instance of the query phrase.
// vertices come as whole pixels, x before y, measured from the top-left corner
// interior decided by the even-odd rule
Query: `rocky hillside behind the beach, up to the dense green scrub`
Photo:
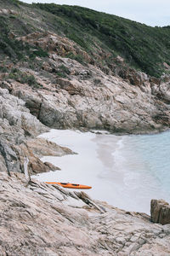
[[[15,76],[18,82],[2,75],[2,80],[6,81],[0,86],[23,99],[26,108],[44,125],[83,126],[123,133],[162,131],[169,127],[167,75],[161,79],[150,78],[129,67],[122,56],[116,56],[112,48],[102,47],[98,40],[90,44],[89,51],[86,47],[83,49],[81,44],[66,38],[63,30],[59,34],[54,30],[53,15],[45,24],[42,13],[36,8],[22,6],[22,11],[23,19],[29,20],[31,28],[23,33],[16,32],[14,38],[22,41],[23,47],[26,44],[33,47],[31,52],[26,51],[26,61],[19,61],[14,67],[24,75],[33,75],[39,87],[20,84],[20,73],[9,76],[10,79]],[[75,34],[75,39],[78,38]],[[80,39],[75,41],[81,42]],[[42,51],[43,54],[30,63],[32,52],[38,52],[39,47],[48,55],[42,57]],[[11,65],[8,59],[1,62],[2,70]],[[162,65],[168,72],[167,62]]]

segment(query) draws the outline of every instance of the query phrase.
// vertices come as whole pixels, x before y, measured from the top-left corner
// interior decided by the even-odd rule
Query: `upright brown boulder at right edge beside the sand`
[[[170,205],[164,200],[152,200],[150,215],[154,223],[170,224]]]

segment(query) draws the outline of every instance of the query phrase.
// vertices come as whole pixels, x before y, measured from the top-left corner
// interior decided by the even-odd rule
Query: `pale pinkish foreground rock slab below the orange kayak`
[[[20,173],[0,176],[1,255],[166,256],[170,226]],[[82,200],[82,199],[83,200]]]

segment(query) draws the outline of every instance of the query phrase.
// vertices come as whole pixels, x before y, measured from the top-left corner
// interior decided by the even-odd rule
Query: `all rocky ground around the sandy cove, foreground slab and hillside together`
[[[22,174],[26,157],[29,172],[38,173],[58,169],[42,155],[75,154],[37,138],[50,128],[119,134],[167,129],[166,60],[164,73],[153,77],[130,65],[127,53],[113,54],[97,34],[87,49],[51,10],[0,3],[0,254],[168,255],[168,224],[81,193],[27,183]]]

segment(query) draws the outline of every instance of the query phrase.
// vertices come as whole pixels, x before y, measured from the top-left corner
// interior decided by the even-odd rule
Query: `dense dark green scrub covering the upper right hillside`
[[[93,42],[121,55],[132,67],[159,77],[162,63],[170,64],[170,28],[151,27],[78,6],[34,4],[63,20],[62,29],[82,48],[93,52]]]

